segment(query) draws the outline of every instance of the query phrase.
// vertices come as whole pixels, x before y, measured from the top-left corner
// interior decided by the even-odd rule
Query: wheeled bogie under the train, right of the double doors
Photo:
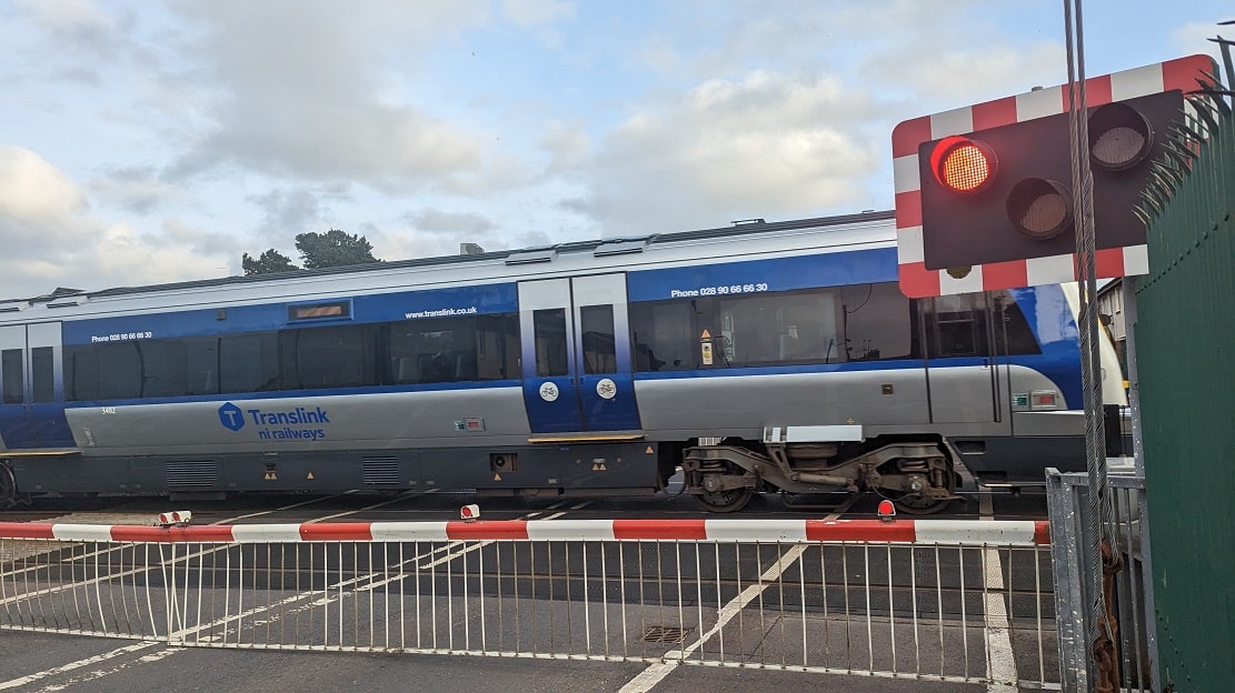
[[[908,514],[930,514],[956,501],[958,477],[939,440],[868,443],[725,440],[688,448],[685,491],[716,513],[740,511],[757,492],[793,497],[869,492]]]

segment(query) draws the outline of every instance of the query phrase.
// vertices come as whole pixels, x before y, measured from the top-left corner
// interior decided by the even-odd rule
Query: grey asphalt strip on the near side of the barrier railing
[[[415,691],[422,693],[608,693],[629,691],[647,677],[641,663],[363,655],[348,652],[263,652],[165,647],[38,633],[0,634],[0,691],[133,693],[135,691],[335,693]],[[659,676],[661,672],[652,672]],[[984,692],[986,686],[881,679],[755,668],[672,667],[656,693],[700,691],[845,691],[847,693]]]

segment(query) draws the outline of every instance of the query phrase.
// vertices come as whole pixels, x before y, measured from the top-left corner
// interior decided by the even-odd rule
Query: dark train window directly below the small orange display
[[[368,326],[315,327],[279,333],[283,390],[375,385]]]

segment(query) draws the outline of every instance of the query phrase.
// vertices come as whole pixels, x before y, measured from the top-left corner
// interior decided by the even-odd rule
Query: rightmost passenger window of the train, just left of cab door
[[[844,314],[844,360],[921,358],[913,302],[895,282],[842,286],[839,291]]]

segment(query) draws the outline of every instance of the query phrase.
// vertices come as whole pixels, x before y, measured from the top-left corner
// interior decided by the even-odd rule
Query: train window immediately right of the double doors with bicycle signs
[[[695,306],[694,300],[631,303],[636,371],[697,367],[700,332]]]

